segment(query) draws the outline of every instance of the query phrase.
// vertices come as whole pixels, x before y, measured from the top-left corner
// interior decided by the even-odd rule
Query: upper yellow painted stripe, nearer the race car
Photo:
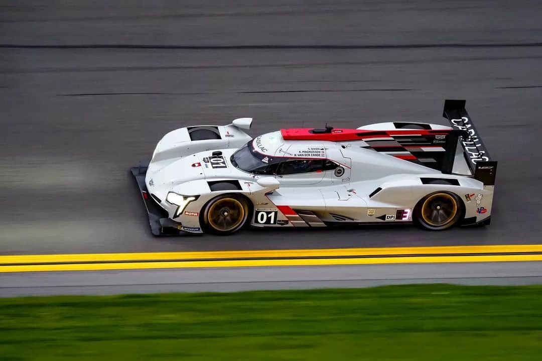
[[[59,263],[59,262],[115,262],[162,260],[211,260],[269,257],[347,257],[385,255],[479,254],[542,252],[542,244],[512,244],[494,246],[437,246],[437,247],[382,247],[382,248],[331,248],[331,249],[276,249],[233,250],[201,252],[150,252],[150,253],[86,253],[46,255],[2,255],[0,264]]]

